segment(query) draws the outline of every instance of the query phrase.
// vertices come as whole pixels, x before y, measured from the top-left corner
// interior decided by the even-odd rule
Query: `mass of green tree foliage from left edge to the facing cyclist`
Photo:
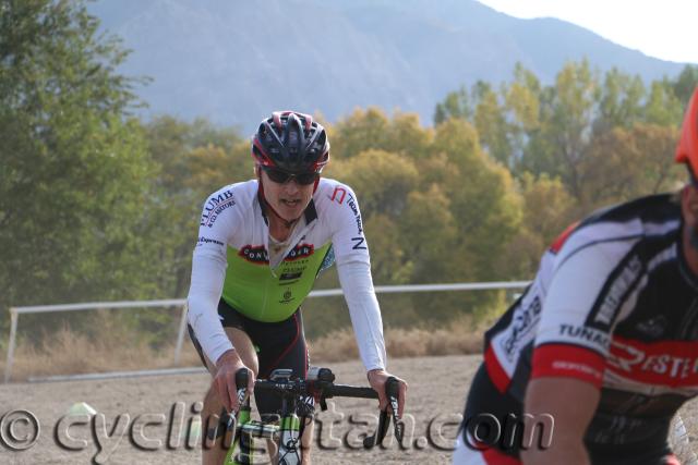
[[[184,296],[201,204],[248,178],[249,147],[203,120],[133,118],[143,79],[116,71],[127,53],[82,2],[0,13],[0,326],[10,305]],[[163,316],[121,319],[146,334]]]

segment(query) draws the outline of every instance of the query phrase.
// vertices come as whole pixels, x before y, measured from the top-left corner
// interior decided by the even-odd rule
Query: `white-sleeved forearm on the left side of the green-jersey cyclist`
[[[186,298],[188,319],[204,353],[213,363],[232,348],[217,313],[225,272],[226,264],[219,257],[194,254],[192,282]]]

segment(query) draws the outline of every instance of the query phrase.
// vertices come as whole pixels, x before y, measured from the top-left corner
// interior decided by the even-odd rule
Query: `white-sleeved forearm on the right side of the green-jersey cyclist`
[[[363,261],[337,264],[339,282],[349,307],[359,354],[366,371],[386,367],[381,308],[373,290],[371,266]]]

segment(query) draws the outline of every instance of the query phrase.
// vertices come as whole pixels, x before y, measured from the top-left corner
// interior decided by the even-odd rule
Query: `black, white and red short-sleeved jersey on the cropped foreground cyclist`
[[[674,413],[698,393],[698,281],[681,229],[678,199],[655,195],[565,231],[486,332],[489,379],[473,381],[469,404],[520,406],[531,378],[578,378],[601,389],[592,452],[664,443]]]

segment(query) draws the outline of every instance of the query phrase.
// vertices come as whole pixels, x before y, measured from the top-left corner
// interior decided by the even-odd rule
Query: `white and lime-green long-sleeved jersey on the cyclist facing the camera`
[[[269,230],[256,180],[231,184],[204,204],[189,291],[189,323],[214,363],[232,343],[218,319],[218,302],[248,318],[289,318],[321,271],[337,262],[359,353],[366,370],[386,367],[383,322],[353,191],[321,179],[285,257],[269,266]]]

